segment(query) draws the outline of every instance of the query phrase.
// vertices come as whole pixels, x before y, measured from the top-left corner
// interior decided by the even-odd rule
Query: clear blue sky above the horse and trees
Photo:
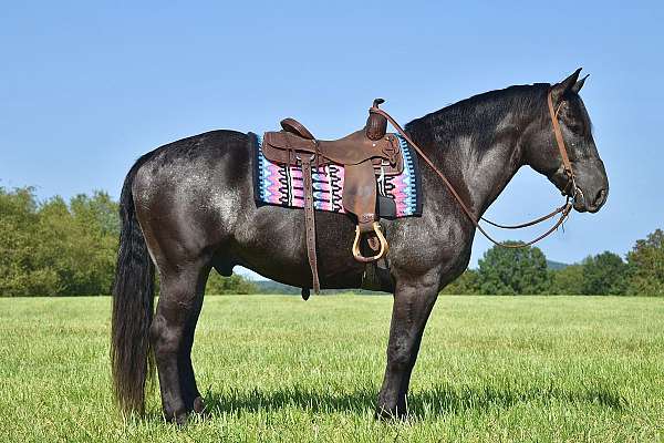
[[[292,115],[336,137],[376,96],[405,124],[583,66],[609,200],[539,246],[572,262],[624,255],[664,228],[661,1],[137,3],[3,2],[0,186],[117,197],[142,153],[200,132],[261,132]],[[488,216],[520,222],[559,204],[523,168]],[[487,247],[477,236],[473,264]]]

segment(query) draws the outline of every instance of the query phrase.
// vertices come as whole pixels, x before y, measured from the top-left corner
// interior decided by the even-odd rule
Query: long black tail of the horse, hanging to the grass
[[[144,155],[129,169],[120,198],[120,249],[113,285],[111,364],[117,404],[124,413],[143,413],[145,387],[154,373],[149,343],[155,266],[136,219],[132,185]]]

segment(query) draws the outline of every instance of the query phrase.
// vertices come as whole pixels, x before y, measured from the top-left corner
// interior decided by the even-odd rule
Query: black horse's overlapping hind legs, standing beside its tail
[[[184,424],[193,410],[203,410],[191,364],[191,346],[208,274],[208,266],[189,265],[160,275],[151,341],[164,416],[178,424]]]

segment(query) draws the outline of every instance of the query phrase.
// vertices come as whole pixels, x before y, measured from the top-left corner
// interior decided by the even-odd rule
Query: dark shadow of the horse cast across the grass
[[[314,413],[373,412],[377,390],[370,388],[353,392],[319,392],[300,385],[284,387],[277,391],[208,392],[206,410],[210,415],[271,411],[297,408]],[[602,408],[622,410],[626,400],[608,387],[581,388],[578,391],[556,387],[548,389],[515,389],[510,387],[453,387],[437,385],[432,390],[408,395],[409,416],[438,416],[466,411],[488,411],[491,408],[510,408],[518,403],[563,402],[572,404],[596,404]]]

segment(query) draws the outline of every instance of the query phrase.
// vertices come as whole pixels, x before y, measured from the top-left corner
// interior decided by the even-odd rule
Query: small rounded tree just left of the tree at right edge
[[[627,266],[618,254],[606,250],[583,260],[583,293],[620,296],[626,286]]]

